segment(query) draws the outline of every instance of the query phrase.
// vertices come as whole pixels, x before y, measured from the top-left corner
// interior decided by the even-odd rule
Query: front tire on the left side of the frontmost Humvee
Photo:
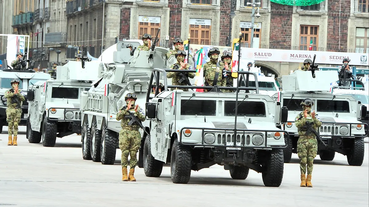
[[[173,183],[179,184],[187,184],[191,177],[191,151],[181,145],[177,139],[174,140],[172,147],[170,177]]]

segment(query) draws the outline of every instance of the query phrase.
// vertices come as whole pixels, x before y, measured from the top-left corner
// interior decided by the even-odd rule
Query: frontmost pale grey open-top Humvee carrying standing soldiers
[[[256,74],[240,71],[241,80],[246,80],[245,74],[254,76],[255,87],[238,87],[256,94],[184,92],[181,89],[237,88],[168,85],[169,71],[176,70],[154,69],[149,84],[158,82],[159,73],[163,74],[165,90],[152,99],[146,95],[149,134],[142,138],[138,162],[145,175],[159,177],[163,164],[170,163],[172,182],[188,183],[192,170],[218,164],[229,170],[233,179],[246,179],[252,169],[262,173],[265,186],[280,186],[282,149],[286,147],[283,137],[288,133],[277,126],[287,121],[287,109],[269,95],[259,94]]]

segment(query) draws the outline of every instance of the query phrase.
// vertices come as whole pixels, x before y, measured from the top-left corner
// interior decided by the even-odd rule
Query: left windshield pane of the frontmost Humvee
[[[215,116],[216,101],[184,99],[181,100],[181,105],[186,101],[187,103],[181,107],[181,115]]]

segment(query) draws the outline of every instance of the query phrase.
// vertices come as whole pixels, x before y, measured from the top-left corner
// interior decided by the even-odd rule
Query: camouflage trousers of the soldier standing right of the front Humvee
[[[300,158],[301,174],[311,175],[313,172],[313,161],[317,156],[318,142],[315,136],[299,136],[297,141],[297,155]]]

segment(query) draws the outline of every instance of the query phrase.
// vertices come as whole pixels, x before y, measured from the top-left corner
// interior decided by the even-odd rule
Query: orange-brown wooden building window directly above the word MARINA
[[[300,50],[314,50],[318,47],[318,26],[300,25]]]

